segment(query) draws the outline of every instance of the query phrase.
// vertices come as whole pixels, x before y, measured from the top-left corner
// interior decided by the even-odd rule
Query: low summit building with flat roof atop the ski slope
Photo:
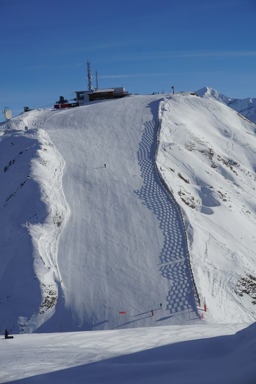
[[[94,91],[76,91],[76,101],[82,105],[88,101],[119,99],[127,96],[124,86],[117,88],[95,89]]]

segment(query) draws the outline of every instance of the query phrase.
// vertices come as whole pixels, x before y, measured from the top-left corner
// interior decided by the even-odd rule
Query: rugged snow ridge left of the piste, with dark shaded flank
[[[12,133],[0,136],[0,326],[12,333],[33,332],[51,317],[61,281],[58,237],[69,210],[63,160],[40,128],[49,113],[36,122],[37,111],[17,116]],[[25,126],[31,129],[20,129]]]

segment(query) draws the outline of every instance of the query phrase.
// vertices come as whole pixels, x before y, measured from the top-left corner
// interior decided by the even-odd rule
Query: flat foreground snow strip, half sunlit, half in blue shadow
[[[20,334],[0,340],[0,382],[255,384],[255,325]]]

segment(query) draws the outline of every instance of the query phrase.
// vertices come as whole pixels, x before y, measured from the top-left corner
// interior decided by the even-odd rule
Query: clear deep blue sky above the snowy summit
[[[256,97],[255,0],[0,0],[1,108],[99,88]],[[0,119],[1,120],[1,119]],[[2,120],[4,116],[2,115]]]

